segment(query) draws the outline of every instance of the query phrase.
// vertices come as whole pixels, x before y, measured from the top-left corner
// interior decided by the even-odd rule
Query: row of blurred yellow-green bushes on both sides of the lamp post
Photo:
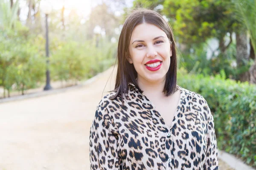
[[[24,94],[45,81],[45,40],[29,36],[26,28],[18,31],[0,29],[0,86]],[[52,80],[77,82],[95,76],[113,65],[116,44],[102,39],[99,47],[93,41],[84,43],[53,39],[50,43],[49,69]],[[5,94],[4,94],[5,96]]]

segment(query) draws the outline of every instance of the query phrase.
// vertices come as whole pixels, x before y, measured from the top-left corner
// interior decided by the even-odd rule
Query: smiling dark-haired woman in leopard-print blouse
[[[172,29],[137,9],[118,43],[115,90],[90,129],[92,170],[217,170],[214,121],[206,100],[176,83]]]

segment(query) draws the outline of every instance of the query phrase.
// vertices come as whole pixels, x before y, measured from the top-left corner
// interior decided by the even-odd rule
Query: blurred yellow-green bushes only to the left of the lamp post
[[[39,55],[37,45],[32,44],[24,31],[23,28],[16,32],[0,30],[0,85],[8,91],[8,96],[12,90],[23,94],[35,88],[45,73],[45,57]],[[37,39],[40,37],[33,37],[34,41]]]

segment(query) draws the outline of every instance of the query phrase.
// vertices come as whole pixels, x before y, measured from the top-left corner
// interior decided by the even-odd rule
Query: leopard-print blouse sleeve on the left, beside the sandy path
[[[113,117],[98,106],[90,128],[90,169],[119,170],[117,142],[113,133]]]

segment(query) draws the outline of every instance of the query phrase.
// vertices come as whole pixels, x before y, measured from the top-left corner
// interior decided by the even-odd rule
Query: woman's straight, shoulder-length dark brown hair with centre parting
[[[133,83],[140,93],[143,91],[139,88],[136,78],[137,71],[134,68],[133,64],[128,62],[129,57],[129,44],[131,40],[131,34],[134,28],[142,23],[153,24],[160,29],[162,29],[170,43],[172,49],[172,57],[169,70],[166,74],[166,82],[164,85],[163,92],[166,96],[173,94],[176,89],[177,83],[177,59],[176,59],[176,45],[174,41],[174,36],[172,32],[172,28],[167,23],[163,17],[155,11],[145,9],[145,8],[137,8],[128,15],[125,20],[125,23],[122,27],[122,31],[118,41],[117,47],[117,74],[116,74],[116,85],[113,91],[116,92],[114,96],[110,99],[115,99],[117,96],[121,95],[122,102],[124,95],[128,93],[128,83]]]

